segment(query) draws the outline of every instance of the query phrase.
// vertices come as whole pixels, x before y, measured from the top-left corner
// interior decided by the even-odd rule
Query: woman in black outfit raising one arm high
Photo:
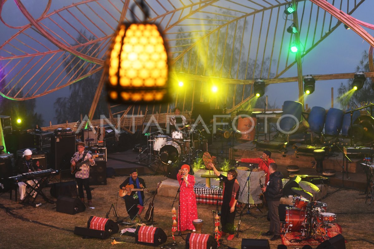
[[[220,179],[223,179],[223,201],[221,205],[221,224],[222,224],[222,236],[226,233],[230,235],[227,240],[234,239],[234,220],[236,214],[236,201],[239,197],[239,182],[236,180],[237,172],[234,169],[227,171],[227,177],[222,175],[215,168],[213,163],[209,163],[209,168],[214,171]]]

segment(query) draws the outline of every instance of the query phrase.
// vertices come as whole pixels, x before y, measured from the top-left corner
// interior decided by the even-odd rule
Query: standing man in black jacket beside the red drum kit
[[[270,240],[281,239],[281,221],[279,220],[278,206],[279,200],[283,196],[283,175],[277,171],[278,165],[271,163],[269,166],[270,179],[267,182],[267,186],[261,189],[265,193],[267,205],[269,207],[269,218],[270,218],[270,229],[263,236],[272,236]]]

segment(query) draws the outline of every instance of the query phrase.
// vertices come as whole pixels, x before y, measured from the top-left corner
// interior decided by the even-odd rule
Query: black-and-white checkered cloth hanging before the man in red
[[[248,203],[248,184],[247,178],[251,171],[237,170],[237,181],[239,181],[240,193],[239,202]],[[264,171],[252,171],[251,178],[249,179],[249,204],[260,204],[262,200],[258,197],[261,194],[260,179],[264,185],[265,183],[265,172]],[[244,190],[243,190],[244,189]]]

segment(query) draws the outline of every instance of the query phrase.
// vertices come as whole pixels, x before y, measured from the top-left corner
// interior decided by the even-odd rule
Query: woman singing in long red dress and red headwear
[[[195,185],[195,177],[188,174],[190,172],[190,166],[183,164],[177,174],[177,180],[181,185],[181,192],[179,193],[180,209],[178,210],[178,230],[194,230],[195,227],[192,224],[193,220],[197,219],[197,206],[196,196],[193,192],[193,186]],[[183,182],[182,182],[183,181]],[[179,227],[179,222],[181,227]]]

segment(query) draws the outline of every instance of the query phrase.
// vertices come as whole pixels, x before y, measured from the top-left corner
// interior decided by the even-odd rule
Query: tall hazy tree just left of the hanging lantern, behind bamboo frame
[[[81,31],[81,33],[83,36],[79,35],[77,37],[78,43],[73,44],[73,46],[87,42],[85,32]],[[93,40],[93,37],[89,37],[88,40]],[[84,47],[81,52],[87,54],[89,51],[96,51],[97,47],[98,44],[94,43]],[[94,52],[91,56],[98,56],[98,52]],[[69,58],[64,61],[64,65],[66,67],[65,71],[69,76],[78,74],[77,71],[81,68],[85,68],[88,65],[87,63],[89,63],[89,66],[85,69],[85,71],[79,71],[80,75],[84,75],[89,72],[93,66],[92,63],[82,60],[74,55],[69,54],[65,56],[64,59],[66,57]],[[99,71],[90,75],[89,77],[83,78],[77,83],[71,84],[69,86],[69,97],[59,97],[55,100],[53,107],[55,108],[56,112],[55,119],[57,124],[62,124],[66,121],[75,122],[80,119],[80,115],[83,117],[88,115],[101,74],[102,71]],[[98,119],[100,118],[100,115],[108,116],[108,105],[105,100],[105,96],[105,91],[102,91],[95,114],[93,117],[89,117],[90,119]]]

